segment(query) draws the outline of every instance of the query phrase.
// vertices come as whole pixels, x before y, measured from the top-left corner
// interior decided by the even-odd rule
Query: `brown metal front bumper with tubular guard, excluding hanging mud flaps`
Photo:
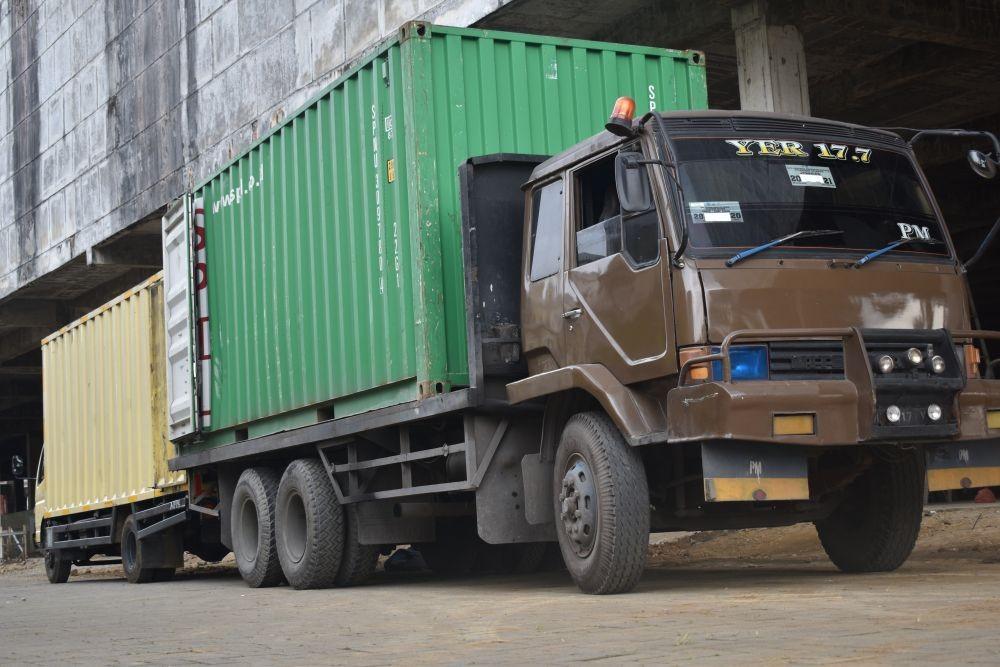
[[[890,333],[905,335],[905,332]],[[915,378],[888,383],[873,372],[865,339],[866,335],[871,339],[884,339],[886,334],[857,328],[734,332],[726,337],[718,353],[691,359],[681,369],[679,386],[667,394],[668,441],[741,440],[828,446],[1000,439],[1000,428],[991,429],[988,417],[990,411],[1000,410],[1000,380],[966,379],[962,372],[961,377]],[[1000,340],[1000,332],[995,331],[912,332],[911,335],[927,340],[932,335],[951,341]],[[842,379],[742,382],[731,379],[729,348],[735,341],[838,338],[843,341],[844,350]],[[721,381],[683,384],[690,367],[711,361],[722,362],[724,378]],[[900,394],[917,396],[920,400],[924,400],[924,396],[944,397],[947,418],[939,424],[887,425],[881,418],[884,404],[889,400],[887,396],[895,402]],[[814,415],[812,433],[775,433],[776,416],[797,414]]]

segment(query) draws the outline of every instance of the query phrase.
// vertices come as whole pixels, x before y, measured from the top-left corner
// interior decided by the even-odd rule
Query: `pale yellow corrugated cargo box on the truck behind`
[[[184,484],[167,468],[164,350],[159,276],[42,342],[47,515]]]

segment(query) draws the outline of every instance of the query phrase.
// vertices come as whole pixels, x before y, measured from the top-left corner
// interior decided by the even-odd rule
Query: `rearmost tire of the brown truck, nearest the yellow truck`
[[[275,544],[278,475],[270,468],[248,468],[233,492],[232,539],[236,566],[251,588],[281,583]]]

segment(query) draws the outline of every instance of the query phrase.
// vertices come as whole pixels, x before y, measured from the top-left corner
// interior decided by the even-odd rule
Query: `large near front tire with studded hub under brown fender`
[[[639,452],[600,412],[566,423],[556,450],[553,501],[566,569],[585,593],[625,593],[649,548],[649,487]]]

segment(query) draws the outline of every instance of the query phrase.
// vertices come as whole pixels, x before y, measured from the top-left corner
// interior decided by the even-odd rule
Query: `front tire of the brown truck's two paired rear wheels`
[[[329,588],[344,555],[344,510],[323,464],[298,459],[285,469],[277,497],[278,560],[296,589]]]

